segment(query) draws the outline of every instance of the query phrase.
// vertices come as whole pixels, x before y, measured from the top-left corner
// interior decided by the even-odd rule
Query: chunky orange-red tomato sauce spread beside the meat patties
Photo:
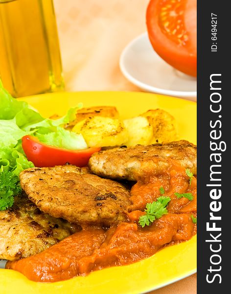
[[[139,217],[146,203],[161,196],[171,201],[168,214],[142,228]],[[193,200],[177,198],[175,193],[191,193]],[[172,166],[159,176],[150,175],[137,182],[131,190],[132,205],[128,207],[128,221],[108,230],[92,226],[83,228],[60,243],[34,256],[6,264],[6,269],[22,272],[36,282],[55,282],[86,275],[93,270],[131,264],[150,257],[165,245],[189,240],[196,234],[196,178],[189,185],[185,169]]]

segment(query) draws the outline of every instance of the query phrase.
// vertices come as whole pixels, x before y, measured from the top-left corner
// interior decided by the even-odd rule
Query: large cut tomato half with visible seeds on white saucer
[[[175,69],[197,75],[197,1],[151,0],[146,23],[153,49]]]

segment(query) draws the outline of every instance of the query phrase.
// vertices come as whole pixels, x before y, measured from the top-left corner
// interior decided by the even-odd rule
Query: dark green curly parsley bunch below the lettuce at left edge
[[[21,192],[19,177],[7,170],[0,171],[0,210],[12,207],[14,196]]]

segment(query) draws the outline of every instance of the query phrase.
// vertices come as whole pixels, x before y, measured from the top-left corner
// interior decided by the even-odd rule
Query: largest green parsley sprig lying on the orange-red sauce
[[[166,206],[171,200],[170,197],[160,196],[157,201],[146,204],[145,215],[139,217],[139,224],[142,228],[145,225],[150,225],[156,219],[160,219],[163,215],[167,214],[168,211]]]

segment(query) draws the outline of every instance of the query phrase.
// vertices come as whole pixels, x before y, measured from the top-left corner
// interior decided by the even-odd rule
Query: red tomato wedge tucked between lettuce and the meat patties
[[[101,149],[100,147],[83,150],[62,149],[41,143],[33,136],[24,136],[22,146],[27,159],[39,168],[65,165],[66,163],[83,167],[88,164],[91,155]]]

